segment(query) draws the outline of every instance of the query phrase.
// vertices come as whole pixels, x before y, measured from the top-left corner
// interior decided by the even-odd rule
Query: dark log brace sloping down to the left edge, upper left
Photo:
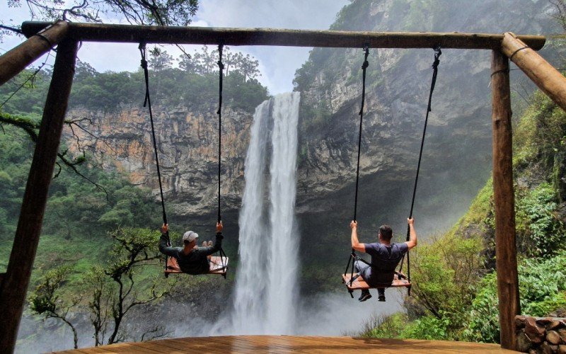
[[[44,55],[67,35],[69,26],[59,21],[0,56],[0,85],[16,76],[35,59]]]

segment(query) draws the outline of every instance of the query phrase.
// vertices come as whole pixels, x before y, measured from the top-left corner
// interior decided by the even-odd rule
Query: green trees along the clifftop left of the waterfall
[[[181,57],[180,68],[172,67],[173,59],[167,52],[153,52],[149,62],[149,87],[154,105],[185,105],[189,108],[203,109],[217,104],[217,51],[208,53],[207,47],[203,47],[202,52],[195,52],[192,55],[190,65],[185,63],[187,61],[185,57]],[[241,53],[226,52],[226,55],[236,59],[231,59],[231,65],[225,67],[224,105],[253,113],[255,107],[268,96],[267,89],[257,79],[258,62],[249,55],[243,57]],[[163,57],[167,59],[163,60]],[[33,74],[33,71],[26,70],[15,80],[0,86],[0,102],[9,98],[16,92],[18,86]],[[11,97],[1,109],[6,113],[25,115],[39,120],[49,84],[50,72],[40,70],[35,74],[34,79],[27,81],[23,89]],[[144,73],[141,69],[137,72],[100,73],[89,64],[78,62],[69,108],[82,107],[95,111],[119,110],[123,104],[142,105],[144,94]]]

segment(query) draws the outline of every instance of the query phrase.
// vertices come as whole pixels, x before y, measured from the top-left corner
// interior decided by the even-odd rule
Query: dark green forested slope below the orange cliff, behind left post
[[[22,130],[6,126],[4,134],[0,134],[0,149],[3,152],[0,157],[0,271],[5,271],[33,142]],[[36,258],[39,268],[50,269],[63,261],[71,263],[76,271],[87,269],[100,260],[98,251],[110,246],[105,236],[110,229],[118,225],[155,227],[159,224],[158,205],[149,190],[135,187],[114,173],[86,166],[77,168],[104,189],[73,171],[64,171],[54,178]]]

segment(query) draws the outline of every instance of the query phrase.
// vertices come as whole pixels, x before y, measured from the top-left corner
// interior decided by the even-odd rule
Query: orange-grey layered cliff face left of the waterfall
[[[136,185],[154,190],[159,185],[146,108],[122,106],[115,113],[75,108],[69,118],[89,118],[92,132],[76,130],[81,144],[96,154],[105,169],[129,176]],[[250,113],[229,108],[222,114],[222,202],[227,209],[239,207],[243,188],[243,161],[249,141]],[[218,117],[208,108],[154,107],[158,158],[163,193],[177,215],[205,215],[215,210],[218,183]],[[71,139],[67,132],[67,137]],[[96,136],[97,138],[94,138]],[[76,145],[70,144],[76,148]]]

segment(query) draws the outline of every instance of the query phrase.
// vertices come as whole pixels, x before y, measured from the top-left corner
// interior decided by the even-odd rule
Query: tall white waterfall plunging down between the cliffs
[[[255,110],[239,219],[240,261],[231,319],[235,333],[289,334],[294,329],[299,98],[299,93],[283,93]]]

